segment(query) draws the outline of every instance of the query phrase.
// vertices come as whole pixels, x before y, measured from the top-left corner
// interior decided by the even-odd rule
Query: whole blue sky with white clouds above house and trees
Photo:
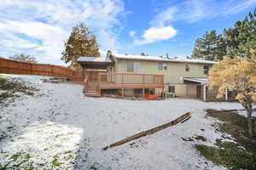
[[[243,20],[256,0],[0,0],[0,55],[63,64],[73,26],[96,34],[102,54],[190,55],[197,37]]]

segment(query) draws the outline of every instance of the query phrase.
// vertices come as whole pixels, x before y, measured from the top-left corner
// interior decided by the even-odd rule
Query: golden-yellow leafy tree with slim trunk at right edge
[[[248,133],[253,137],[253,103],[256,104],[256,50],[250,50],[250,57],[224,57],[209,71],[209,87],[218,88],[218,97],[225,89],[237,92],[236,99],[247,111]],[[256,130],[256,127],[254,128]],[[255,131],[256,132],[256,131]]]

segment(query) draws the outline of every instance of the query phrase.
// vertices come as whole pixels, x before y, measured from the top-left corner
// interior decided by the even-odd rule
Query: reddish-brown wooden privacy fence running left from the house
[[[72,80],[82,80],[81,71],[73,71],[65,66],[28,63],[3,58],[0,58],[0,73],[68,77]]]

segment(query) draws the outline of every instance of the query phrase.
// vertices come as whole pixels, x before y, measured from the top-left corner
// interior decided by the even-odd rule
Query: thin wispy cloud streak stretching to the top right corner
[[[253,7],[255,4],[256,0],[186,0],[164,10],[160,9],[160,12],[151,21],[151,25],[164,26],[178,20],[195,23],[201,20],[237,14],[246,8]]]

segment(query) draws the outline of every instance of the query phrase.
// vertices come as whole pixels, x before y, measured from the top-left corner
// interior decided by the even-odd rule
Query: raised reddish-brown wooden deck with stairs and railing
[[[85,77],[84,94],[86,96],[101,96],[102,89],[122,89],[122,97],[125,88],[161,88],[164,92],[164,76],[135,73],[98,73],[93,82]],[[164,93],[162,93],[164,94]],[[163,97],[163,96],[162,96]]]

